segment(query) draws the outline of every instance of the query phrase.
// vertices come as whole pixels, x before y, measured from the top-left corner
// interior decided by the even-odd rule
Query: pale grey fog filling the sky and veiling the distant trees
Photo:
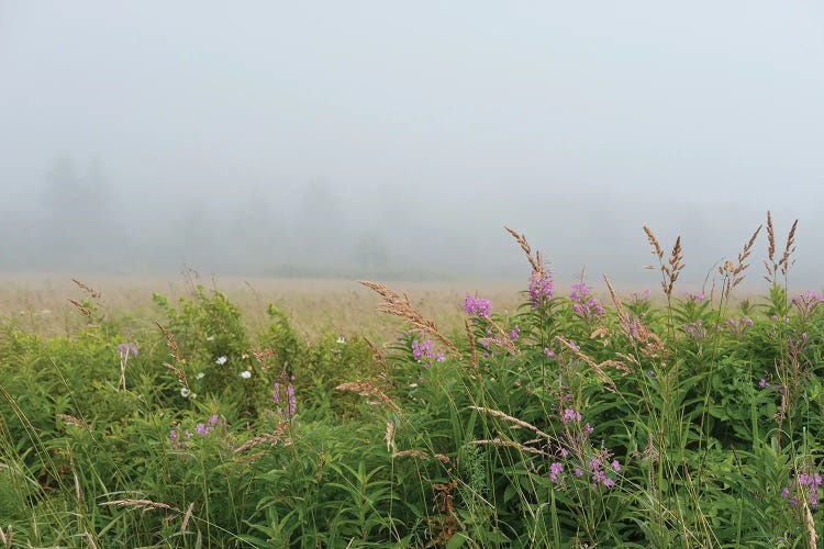
[[[0,270],[820,288],[823,5],[3,0]]]

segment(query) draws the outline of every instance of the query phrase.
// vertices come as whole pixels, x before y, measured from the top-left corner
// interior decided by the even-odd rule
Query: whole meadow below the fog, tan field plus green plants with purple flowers
[[[0,547],[816,547],[794,225],[706,293],[680,238],[650,293],[511,234],[523,284],[5,277]]]

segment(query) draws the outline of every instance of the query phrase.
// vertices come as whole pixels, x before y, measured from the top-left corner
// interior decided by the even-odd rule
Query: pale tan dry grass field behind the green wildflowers
[[[243,311],[250,329],[267,322],[269,303],[283,311],[310,339],[324,334],[367,335],[378,340],[393,338],[403,324],[377,312],[379,298],[356,280],[134,277],[112,274],[0,274],[0,315],[13,320],[25,332],[53,336],[75,332],[85,323],[69,299],[81,300],[79,280],[102,296],[109,314],[127,329],[153,329],[163,312],[153,293],[172,302],[190,292],[191,284],[224,292]],[[514,311],[523,284],[501,281],[391,282],[446,333],[464,329],[463,303],[476,292],[492,300],[497,312]],[[155,328],[156,329],[156,328]]]

